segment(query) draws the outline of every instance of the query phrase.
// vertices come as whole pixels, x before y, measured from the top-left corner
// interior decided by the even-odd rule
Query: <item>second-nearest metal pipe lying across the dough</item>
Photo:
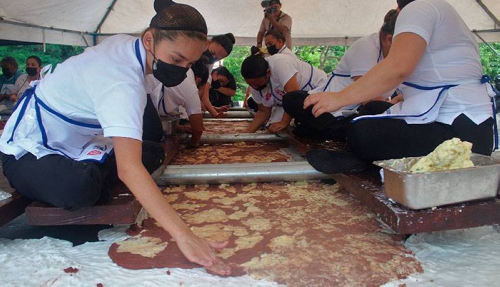
[[[189,140],[187,137],[185,140]],[[275,134],[203,134],[200,144],[221,144],[237,142],[276,142],[284,138]]]

